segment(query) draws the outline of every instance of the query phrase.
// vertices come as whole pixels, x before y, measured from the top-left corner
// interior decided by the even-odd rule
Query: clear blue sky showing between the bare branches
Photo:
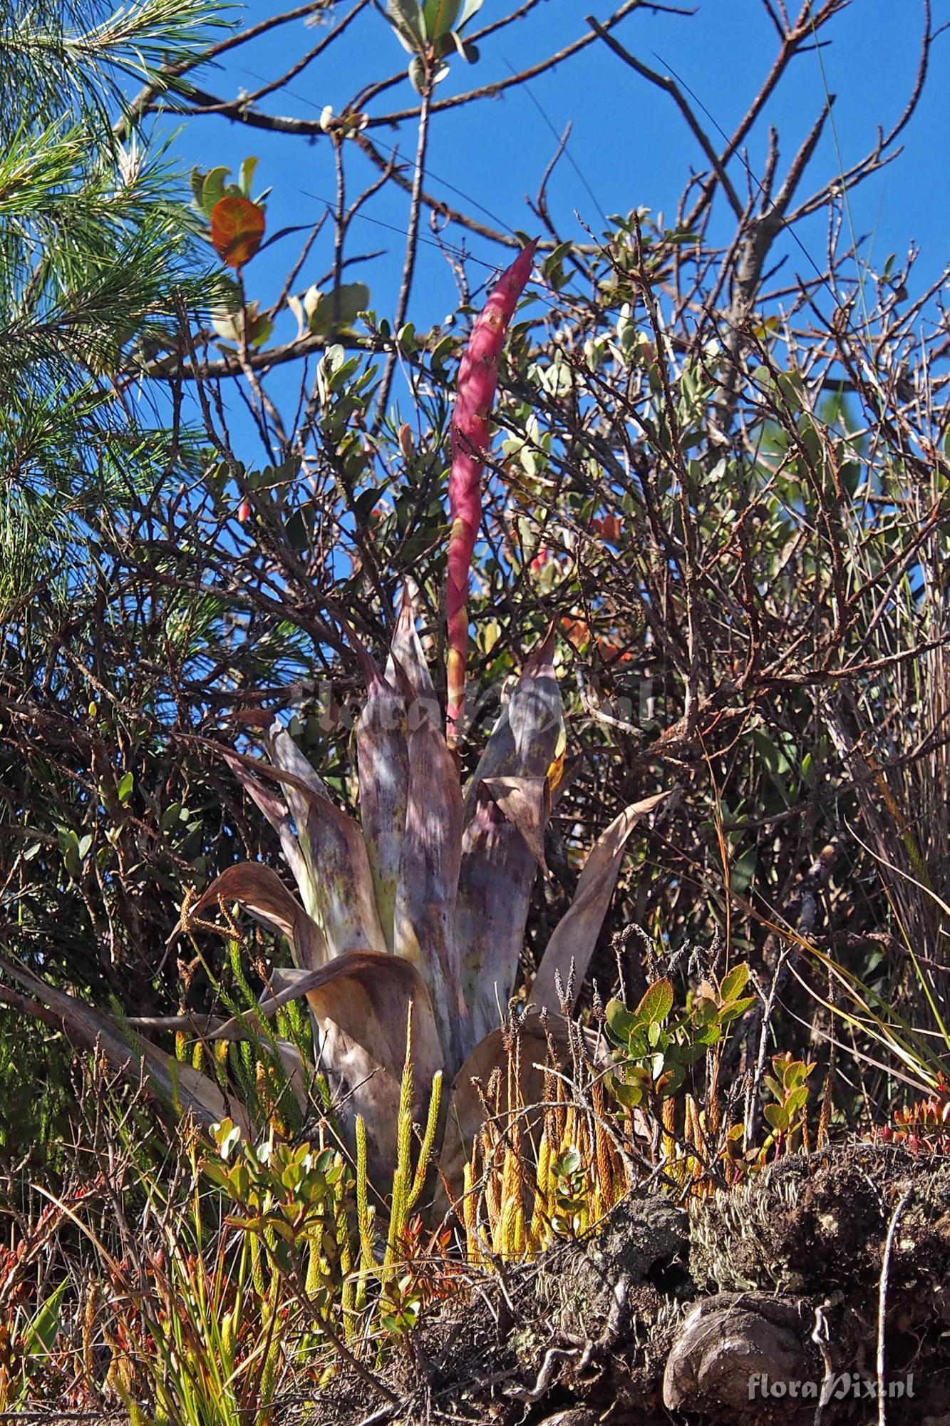
[[[485,0],[475,26],[498,19],[511,3]],[[797,11],[799,3],[792,0],[789,9]],[[275,3],[252,0],[244,7],[244,17],[254,24],[280,9]],[[337,17],[345,9],[341,3]],[[933,0],[933,9],[934,26],[950,21],[950,0]],[[512,68],[543,58],[586,30],[583,17],[588,13],[605,19],[609,10],[603,0],[542,0],[526,20],[488,39],[478,64],[469,67],[455,60],[438,97],[501,78]],[[826,130],[802,195],[862,157],[873,145],[879,124],[890,127],[897,120],[913,86],[921,27],[920,0],[852,0],[823,31],[833,43],[820,54],[805,53],[793,61],[766,111],[767,121],[780,135],[780,174],[820,113],[826,87],[837,96],[833,128]],[[240,87],[254,90],[275,78],[315,43],[320,33],[295,21],[227,56],[220,71],[204,70],[197,81],[228,98]],[[719,130],[729,133],[745,113],[776,47],[776,34],[760,0],[698,0],[696,14],[689,19],[650,14],[643,9],[625,19],[615,33],[646,64],[675,71],[683,87],[692,90],[695,107],[715,144],[723,143]],[[325,57],[291,81],[288,90],[262,100],[260,107],[312,120],[325,104],[339,110],[362,84],[402,68],[407,58],[387,21],[368,10]],[[852,195],[853,225],[856,232],[870,235],[864,251],[872,265],[883,264],[889,252],[900,258],[911,242],[920,247],[911,292],[936,278],[950,258],[949,91],[950,34],[946,34],[936,41],[927,93],[903,135],[904,153]],[[402,83],[375,100],[369,111],[387,113],[414,101],[408,83]],[[611,214],[639,205],[663,211],[672,224],[683,180],[690,164],[705,167],[702,155],[672,100],[639,78],[601,41],[535,78],[526,90],[435,116],[428,187],[472,211],[481,205],[492,215],[486,221],[494,227],[535,231],[538,224],[525,207],[525,194],[536,193],[556,147],[555,131],[559,134],[568,121],[573,124],[569,155],[576,168],[562,158],[549,188],[552,212],[566,237],[585,237],[575,210],[595,231],[603,225],[601,211]],[[378,128],[372,137],[381,145],[398,144],[401,155],[411,163],[412,124],[398,130]],[[765,145],[766,127],[760,124],[749,143],[756,174],[762,173]],[[237,168],[247,154],[255,154],[260,185],[274,188],[268,200],[270,232],[287,224],[315,221],[334,194],[331,145],[322,137],[308,144],[220,118],[197,118],[187,123],[175,150],[187,163],[205,168],[218,163]],[[365,165],[354,164],[354,178],[367,171]],[[739,171],[735,173],[739,178]],[[379,315],[391,315],[395,305],[407,208],[405,197],[389,194],[368,212],[379,224],[392,227],[367,220],[357,220],[354,227],[351,252],[387,250],[384,257],[351,272],[371,285],[372,305]],[[446,237],[458,242],[459,230],[449,230]],[[824,221],[803,237],[820,262]],[[272,301],[295,255],[297,241],[278,244],[247,268],[250,297]],[[496,261],[496,250],[478,238],[466,241],[475,257]],[[330,225],[298,285],[320,278],[328,267]],[[807,271],[802,251],[792,251],[789,275],[796,267]],[[435,247],[425,247],[409,317],[425,327],[452,305],[448,265]],[[294,329],[287,318],[275,339],[290,338]]]

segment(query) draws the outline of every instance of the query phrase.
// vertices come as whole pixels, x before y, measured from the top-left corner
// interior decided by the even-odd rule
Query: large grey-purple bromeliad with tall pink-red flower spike
[[[332,801],[291,734],[272,722],[264,732],[265,761],[238,753],[228,760],[277,831],[300,900],[277,871],[242,863],[228,867],[183,917],[188,924],[207,907],[240,903],[287,937],[294,968],[272,973],[270,994],[255,1011],[204,1022],[203,1032],[248,1035],[255,1021],[305,995],[320,1068],[351,1141],[362,1119],[371,1165],[395,1161],[411,1024],[414,1117],[425,1118],[441,1074],[451,1085],[442,1164],[449,1172],[462,1168],[482,1117],[472,1079],[486,1079],[504,1061],[499,1027],[515,988],[531,891],[538,868],[543,870],[543,834],[563,770],[553,633],[528,657],[465,789],[451,747],[462,704],[466,589],[481,518],[488,418],[505,332],[532,255],[529,245],[501,278],[459,372],[452,422],[448,736],[407,595],[385,672],[352,640],[367,687],[355,733],[359,821]],[[545,1058],[548,1038],[539,1014],[565,1008],[559,984],[569,987],[571,997],[581,987],[625,844],[659,800],[650,797],[622,811],[588,856],[572,906],[529,990],[532,1010],[521,1027],[526,1062]],[[107,1017],[50,991],[23,968],[7,964],[7,970],[87,1040],[100,1035],[113,1058],[123,1052],[130,1058],[127,1038]],[[163,1024],[183,1028],[187,1021]],[[144,1061],[145,1071],[165,1087],[173,1079],[180,1102],[205,1124],[227,1114],[247,1125],[241,1105],[231,1098],[225,1102],[207,1075],[184,1065],[173,1072],[168,1058],[144,1040],[136,1041],[131,1058],[136,1071]]]

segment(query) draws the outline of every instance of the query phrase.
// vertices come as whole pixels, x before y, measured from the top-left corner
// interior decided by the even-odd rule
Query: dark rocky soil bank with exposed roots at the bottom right
[[[586,1239],[469,1278],[375,1385],[342,1366],[307,1419],[877,1426],[880,1383],[890,1426],[950,1426],[950,1156],[857,1144],[688,1209],[630,1195]]]

